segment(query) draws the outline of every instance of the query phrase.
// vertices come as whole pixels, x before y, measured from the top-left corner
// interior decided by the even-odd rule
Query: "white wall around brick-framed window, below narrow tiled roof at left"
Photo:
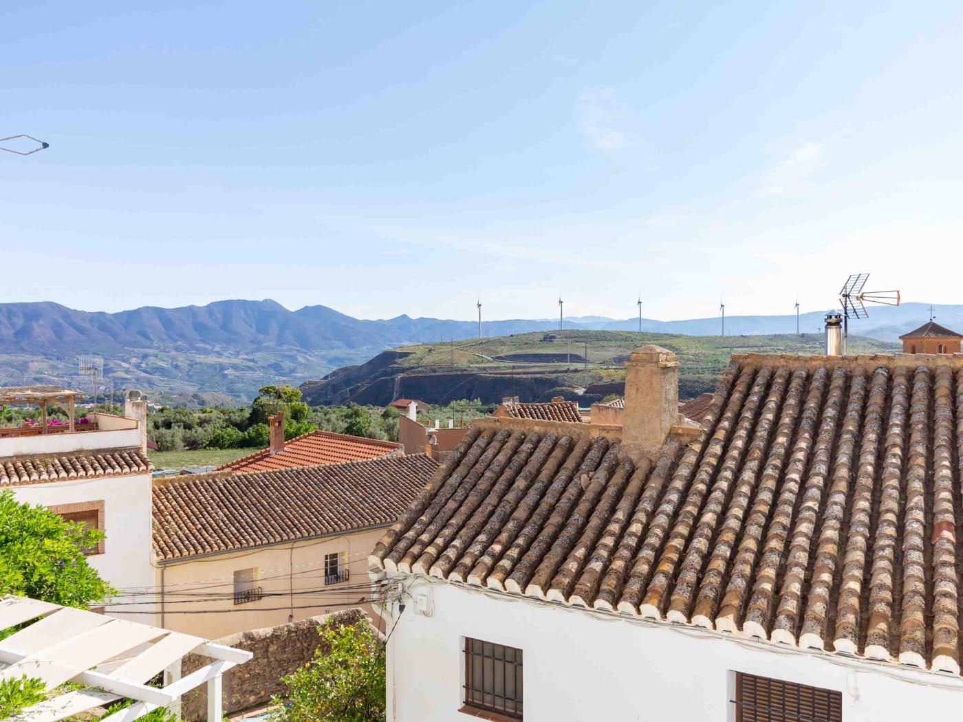
[[[80,434],[76,434],[80,435]],[[152,588],[154,570],[151,566],[151,496],[150,475],[102,477],[54,481],[48,484],[13,486],[13,495],[20,502],[59,506],[79,502],[104,502],[104,530],[107,539],[104,554],[92,554],[87,559],[118,589],[130,587]],[[118,600],[124,601],[124,600]],[[123,619],[151,624],[153,606],[107,606],[106,611],[131,609],[143,614],[123,614]]]

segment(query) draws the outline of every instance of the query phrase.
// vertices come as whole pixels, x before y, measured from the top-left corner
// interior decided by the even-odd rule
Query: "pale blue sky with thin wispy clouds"
[[[958,2],[20,5],[0,301],[963,302]]]

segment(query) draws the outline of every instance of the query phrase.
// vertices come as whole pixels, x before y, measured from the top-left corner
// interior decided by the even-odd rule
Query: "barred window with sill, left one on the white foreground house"
[[[522,717],[522,651],[465,637],[465,711]]]

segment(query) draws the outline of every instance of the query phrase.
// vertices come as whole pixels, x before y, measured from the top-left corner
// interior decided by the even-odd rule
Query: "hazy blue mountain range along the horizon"
[[[881,341],[929,318],[930,307],[873,307],[852,332]],[[938,322],[963,327],[963,305],[933,306]],[[824,311],[799,316],[802,332],[821,329]],[[482,322],[482,333],[551,331],[558,320]],[[796,317],[730,316],[727,335],[794,333]],[[642,319],[642,330],[718,335],[719,318]],[[638,330],[638,318],[566,319],[567,329]],[[417,318],[354,319],[322,305],[291,311],[271,299],[205,306],[144,306],[117,313],[78,311],[54,302],[0,304],[0,384],[77,382],[77,356],[103,357],[117,389],[143,388],[171,400],[247,400],[266,383],[299,383],[357,364],[385,348],[474,338],[478,322]]]

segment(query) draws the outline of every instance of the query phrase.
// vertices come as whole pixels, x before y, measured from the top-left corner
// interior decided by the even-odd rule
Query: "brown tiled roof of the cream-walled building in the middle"
[[[154,554],[175,559],[386,525],[437,468],[419,453],[155,479]]]

